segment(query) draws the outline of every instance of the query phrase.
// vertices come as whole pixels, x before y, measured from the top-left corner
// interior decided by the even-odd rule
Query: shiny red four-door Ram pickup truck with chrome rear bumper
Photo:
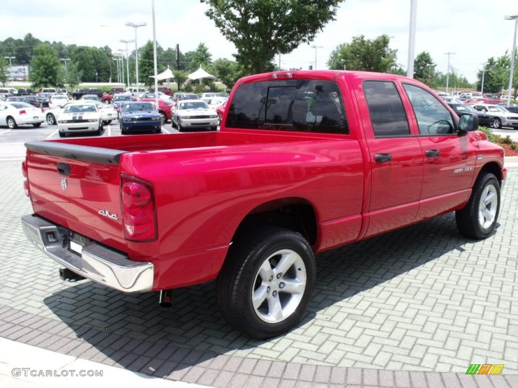
[[[495,229],[503,150],[425,85],[392,74],[294,71],[240,79],[218,132],[32,141],[28,238],[63,279],[125,292],[216,280],[226,320],[290,329],[314,253],[455,211]]]

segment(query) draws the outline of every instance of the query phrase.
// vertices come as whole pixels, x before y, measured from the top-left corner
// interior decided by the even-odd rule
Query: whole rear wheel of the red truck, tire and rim
[[[315,284],[315,260],[306,239],[263,227],[231,245],[216,282],[223,317],[254,338],[291,329],[303,317]]]

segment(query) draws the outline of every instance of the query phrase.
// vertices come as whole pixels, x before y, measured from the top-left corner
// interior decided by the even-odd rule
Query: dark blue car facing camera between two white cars
[[[120,110],[121,135],[132,131],[149,130],[151,133],[160,133],[161,117],[151,102],[127,102]]]

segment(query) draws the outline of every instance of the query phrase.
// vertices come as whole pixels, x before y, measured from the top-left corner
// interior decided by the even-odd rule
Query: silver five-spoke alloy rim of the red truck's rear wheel
[[[306,290],[306,265],[291,249],[272,253],[259,267],[252,287],[252,306],[259,319],[279,323],[297,309]]]

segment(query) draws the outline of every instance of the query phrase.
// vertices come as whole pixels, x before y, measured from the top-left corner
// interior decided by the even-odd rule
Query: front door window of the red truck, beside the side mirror
[[[421,135],[448,135],[455,131],[450,111],[432,94],[419,86],[403,84]]]

